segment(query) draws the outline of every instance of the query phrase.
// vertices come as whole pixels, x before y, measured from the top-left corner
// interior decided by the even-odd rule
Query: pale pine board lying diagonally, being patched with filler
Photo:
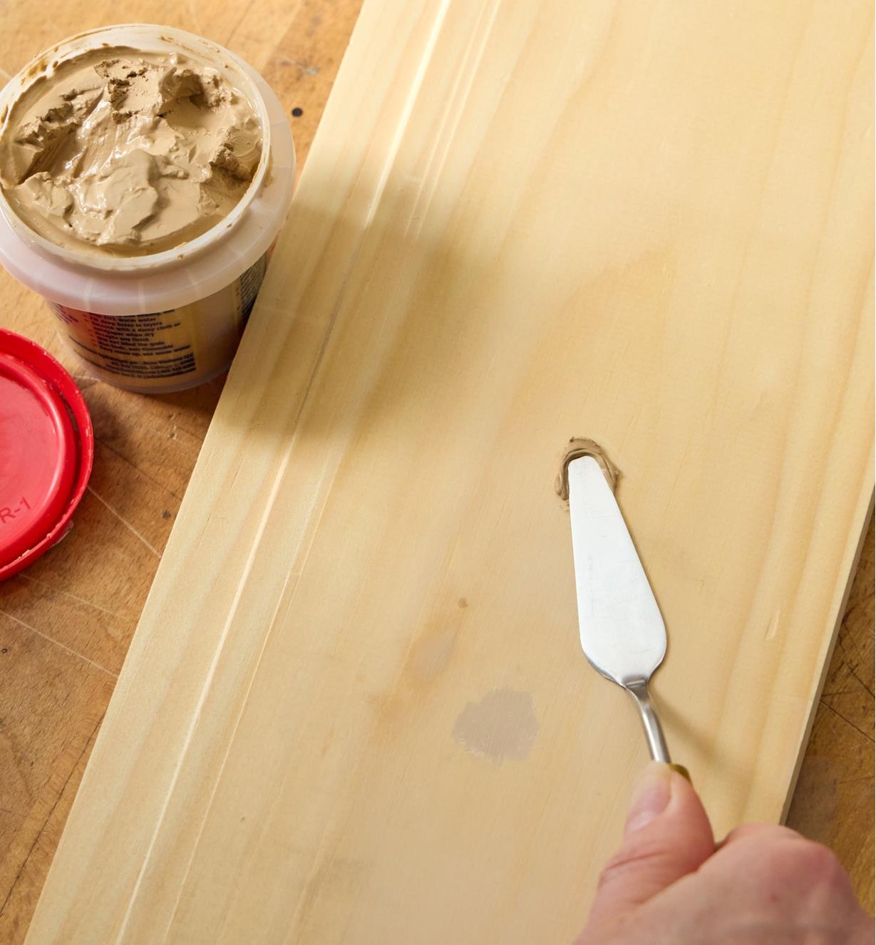
[[[870,15],[369,0],[28,941],[572,936],[644,758],[575,434],[718,832],[782,816],[872,494]]]

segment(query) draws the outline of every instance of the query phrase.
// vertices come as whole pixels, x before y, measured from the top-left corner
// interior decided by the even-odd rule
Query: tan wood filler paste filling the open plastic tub
[[[261,153],[249,100],[218,71],[119,46],[28,86],[0,133],[0,184],[53,243],[138,256],[228,215]]]

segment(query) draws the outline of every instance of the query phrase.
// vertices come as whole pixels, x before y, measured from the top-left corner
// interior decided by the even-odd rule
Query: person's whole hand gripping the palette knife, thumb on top
[[[653,762],[576,945],[873,942],[873,919],[827,847],[786,827],[747,824],[715,849],[694,788]]]

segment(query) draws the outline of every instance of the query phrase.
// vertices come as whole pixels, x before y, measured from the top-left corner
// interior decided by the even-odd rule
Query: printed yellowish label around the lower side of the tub
[[[49,304],[98,377],[136,390],[187,387],[231,363],[265,269],[263,256],[219,292],[165,312],[98,315]]]

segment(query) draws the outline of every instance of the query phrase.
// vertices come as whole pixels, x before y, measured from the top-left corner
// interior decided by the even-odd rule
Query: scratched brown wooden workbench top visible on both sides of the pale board
[[[0,67],[16,71],[79,29],[141,19],[230,45],[262,69],[291,113],[301,163],[358,11],[357,0],[10,2]],[[68,366],[42,303],[0,273],[0,324]],[[0,941],[26,924],[174,522],[221,385],[147,399],[81,376],[97,438],[74,531],[0,588]],[[873,900],[873,530],[852,586],[788,816],[829,843]]]

